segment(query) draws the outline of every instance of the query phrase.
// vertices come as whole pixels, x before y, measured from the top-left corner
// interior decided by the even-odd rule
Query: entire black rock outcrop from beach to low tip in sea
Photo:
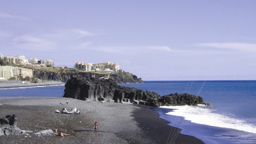
[[[155,92],[122,87],[111,79],[71,78],[66,82],[64,92],[63,97],[81,100],[131,102],[155,107],[204,104],[200,96],[176,93],[161,97]]]

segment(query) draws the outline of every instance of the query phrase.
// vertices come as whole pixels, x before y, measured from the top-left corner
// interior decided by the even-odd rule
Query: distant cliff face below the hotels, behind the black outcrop
[[[77,70],[65,71],[61,70],[45,70],[45,69],[35,69],[33,72],[33,77],[41,80],[59,80],[66,82],[70,78],[102,78],[102,79],[112,79],[116,83],[142,83],[141,78],[132,75],[131,73],[116,73],[116,74],[97,74],[97,73],[83,73]]]

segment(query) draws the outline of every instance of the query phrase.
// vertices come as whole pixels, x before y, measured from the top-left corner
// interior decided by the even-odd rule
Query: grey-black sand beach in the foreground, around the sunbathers
[[[26,135],[0,136],[1,143],[170,143],[171,126],[158,118],[150,107],[99,103],[59,97],[0,97],[0,116],[16,114],[17,126]],[[63,102],[64,105],[60,105]],[[54,111],[76,107],[80,114],[63,114]],[[93,123],[98,122],[94,133]],[[36,136],[34,133],[58,127],[59,131],[70,134]],[[172,135],[172,134],[171,134]],[[179,134],[175,143],[203,143],[192,136]]]

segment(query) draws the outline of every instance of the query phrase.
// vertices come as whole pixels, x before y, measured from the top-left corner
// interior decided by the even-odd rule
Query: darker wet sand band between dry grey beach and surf
[[[155,107],[144,105],[138,105],[138,107],[142,109],[135,110],[135,121],[142,125],[141,127],[151,138],[158,139],[158,143],[204,143],[194,136],[179,133],[180,128],[168,125],[168,121],[159,118],[160,115],[152,110]]]

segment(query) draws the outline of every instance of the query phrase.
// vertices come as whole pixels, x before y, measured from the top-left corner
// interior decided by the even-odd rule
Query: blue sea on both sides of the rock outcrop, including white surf
[[[256,81],[144,81],[120,84],[161,96],[190,93],[211,106],[152,108],[168,125],[205,143],[256,143]],[[0,89],[3,96],[62,97],[64,85]],[[1,103],[1,102],[0,102]]]

